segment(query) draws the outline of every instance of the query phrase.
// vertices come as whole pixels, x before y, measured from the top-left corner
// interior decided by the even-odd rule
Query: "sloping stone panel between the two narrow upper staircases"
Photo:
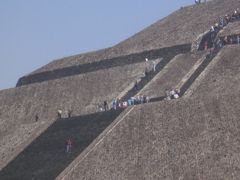
[[[141,93],[151,98],[165,96],[165,90],[180,89],[186,81],[188,73],[194,71],[195,65],[200,64],[206,57],[206,52],[186,53],[176,56],[158,75],[146,86]]]

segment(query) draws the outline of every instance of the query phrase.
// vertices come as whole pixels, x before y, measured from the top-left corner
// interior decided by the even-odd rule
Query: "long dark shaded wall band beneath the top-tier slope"
[[[190,51],[190,44],[184,44],[184,45],[173,46],[169,48],[144,51],[137,54],[120,56],[113,59],[87,63],[87,64],[78,65],[78,66],[65,67],[65,68],[56,69],[53,71],[45,71],[45,72],[31,74],[31,75],[20,78],[17,83],[17,86],[43,82],[43,81],[48,81],[53,79],[59,79],[59,78],[73,76],[77,74],[84,74],[87,72],[104,70],[112,67],[124,66],[127,64],[144,62],[146,57],[150,60],[161,58],[161,57],[168,58],[169,56],[175,56],[179,53],[185,53],[188,51]]]

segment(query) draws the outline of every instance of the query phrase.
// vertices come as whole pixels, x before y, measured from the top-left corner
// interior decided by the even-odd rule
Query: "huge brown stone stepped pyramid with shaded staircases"
[[[239,6],[182,7],[113,47],[54,60],[0,91],[0,179],[238,179],[240,46],[209,54],[194,45]],[[217,37],[239,35],[239,22]],[[179,99],[165,100],[171,88]],[[150,102],[99,109],[142,95]]]

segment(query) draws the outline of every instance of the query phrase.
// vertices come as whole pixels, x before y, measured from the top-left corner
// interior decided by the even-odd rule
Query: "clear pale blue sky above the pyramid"
[[[0,90],[66,56],[116,45],[194,0],[0,0]]]

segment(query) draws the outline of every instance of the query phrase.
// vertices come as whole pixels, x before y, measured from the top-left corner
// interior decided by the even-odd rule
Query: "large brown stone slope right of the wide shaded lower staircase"
[[[138,106],[59,179],[237,180],[239,100],[229,95]]]

